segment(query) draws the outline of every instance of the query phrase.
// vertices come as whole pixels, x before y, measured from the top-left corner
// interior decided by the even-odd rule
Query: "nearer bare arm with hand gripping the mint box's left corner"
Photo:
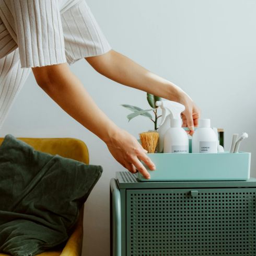
[[[71,117],[101,138],[120,164],[131,172],[136,172],[137,169],[146,178],[150,177],[138,160],[143,160],[149,169],[155,169],[143,147],[135,137],[120,129],[98,108],[66,63],[34,67],[32,71],[46,94]]]

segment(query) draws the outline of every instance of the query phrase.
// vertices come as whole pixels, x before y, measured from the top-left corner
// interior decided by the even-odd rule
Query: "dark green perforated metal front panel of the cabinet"
[[[255,193],[126,190],[127,255],[255,256]]]

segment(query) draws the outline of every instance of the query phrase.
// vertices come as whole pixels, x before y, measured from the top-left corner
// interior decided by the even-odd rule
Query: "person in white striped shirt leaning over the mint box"
[[[83,58],[115,82],[184,104],[183,125],[193,133],[200,111],[191,98],[178,86],[111,50],[85,0],[0,0],[0,125],[31,68],[46,94],[102,139],[121,165],[149,179],[139,161],[155,169],[146,150],[96,106],[69,70],[67,64]]]

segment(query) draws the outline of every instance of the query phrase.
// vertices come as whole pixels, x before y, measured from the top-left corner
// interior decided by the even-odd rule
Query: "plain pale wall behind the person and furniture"
[[[113,49],[187,91],[204,118],[232,133],[246,131],[243,150],[256,153],[256,2],[254,0],[87,0]],[[145,92],[118,85],[85,61],[72,71],[99,107],[134,136],[152,129],[138,117],[127,123],[122,103],[147,108]],[[74,100],[74,99],[71,99]],[[97,117],[95,117],[97,118]],[[0,136],[77,137],[89,147],[91,164],[104,172],[85,211],[83,255],[109,255],[109,180],[124,170],[94,135],[64,113],[30,75]]]

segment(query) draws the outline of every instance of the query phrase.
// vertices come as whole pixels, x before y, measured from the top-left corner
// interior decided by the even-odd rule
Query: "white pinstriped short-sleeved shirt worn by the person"
[[[0,129],[30,68],[111,50],[85,0],[0,0]],[[22,68],[21,68],[22,67]]]

